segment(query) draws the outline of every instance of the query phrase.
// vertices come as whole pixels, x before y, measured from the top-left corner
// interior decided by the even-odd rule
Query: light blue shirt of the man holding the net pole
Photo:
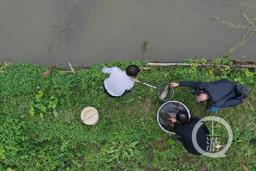
[[[110,76],[104,80],[104,85],[106,90],[112,96],[121,96],[125,90],[130,90],[134,81],[126,74],[125,71],[122,71],[120,68],[103,68],[101,70],[103,73],[108,73]]]

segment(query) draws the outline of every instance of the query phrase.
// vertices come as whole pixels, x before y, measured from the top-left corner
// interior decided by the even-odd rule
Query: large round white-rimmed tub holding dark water
[[[163,104],[161,108],[158,111],[158,123],[159,125],[167,131],[170,131],[170,133],[174,132],[173,128],[173,122],[169,120],[169,118],[175,117],[176,114],[180,110],[185,110],[188,111],[185,107],[185,105],[182,105],[182,103],[176,102],[176,101],[171,101]],[[190,115],[190,114],[189,114]]]

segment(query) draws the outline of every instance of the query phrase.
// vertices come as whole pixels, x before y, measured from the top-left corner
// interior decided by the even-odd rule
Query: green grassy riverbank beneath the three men
[[[226,59],[215,62],[231,65]],[[242,104],[215,114],[204,113],[205,106],[195,101],[189,88],[174,88],[173,100],[184,103],[192,117],[214,115],[231,126],[233,143],[227,156],[209,158],[187,153],[180,142],[159,127],[156,114],[163,102],[155,89],[137,83],[122,98],[111,99],[104,94],[103,81],[109,75],[99,68],[116,66],[125,70],[131,64],[141,66],[138,61],[116,61],[94,65],[77,76],[54,70],[46,78],[41,74],[48,68],[42,66],[17,63],[4,68],[0,74],[0,170],[256,169],[255,137],[244,140],[255,131],[250,130],[255,127],[250,119],[256,117],[254,70],[194,65],[151,67],[151,71],[138,76],[152,85],[183,80],[211,82],[227,77],[249,88],[249,97]],[[49,101],[52,106],[48,108]],[[80,121],[80,112],[86,106],[94,106],[100,115],[99,123],[91,129]],[[206,124],[211,131],[211,123]],[[215,131],[225,142],[226,129],[219,125]],[[123,159],[121,154],[118,161],[109,161],[112,142],[136,141],[139,143],[134,148],[141,152],[138,156]]]

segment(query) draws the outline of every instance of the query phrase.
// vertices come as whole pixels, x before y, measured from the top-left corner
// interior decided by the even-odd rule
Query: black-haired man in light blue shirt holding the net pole
[[[110,76],[104,80],[103,88],[109,97],[122,97],[131,90],[137,79],[130,79],[139,75],[140,69],[137,65],[130,65],[126,71],[122,71],[117,67],[104,67],[103,73],[108,73]]]

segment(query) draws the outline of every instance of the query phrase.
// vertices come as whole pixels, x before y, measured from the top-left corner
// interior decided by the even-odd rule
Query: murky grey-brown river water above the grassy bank
[[[246,24],[241,10],[253,18],[256,1],[245,0],[78,0],[87,17],[69,35],[66,49],[56,43],[51,51],[52,29],[69,0],[1,0],[0,63],[26,61],[41,65],[77,66],[123,60],[140,60],[140,43],[148,41],[144,59],[171,62],[201,56],[223,56],[247,34],[209,17]],[[232,58],[256,61],[256,34]],[[245,56],[242,58],[242,56]]]

